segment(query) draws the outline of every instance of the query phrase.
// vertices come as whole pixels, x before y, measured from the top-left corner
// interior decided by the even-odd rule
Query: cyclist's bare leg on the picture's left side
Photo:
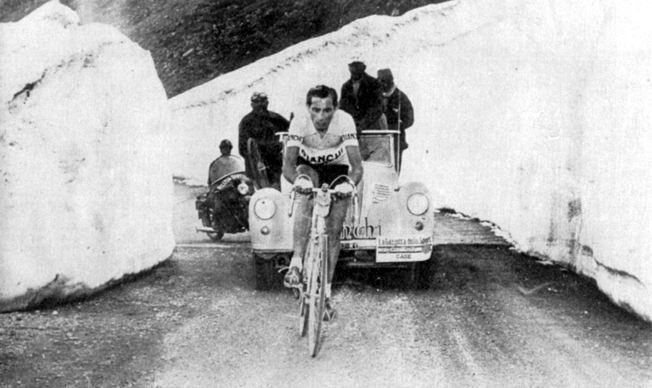
[[[319,176],[315,170],[310,166],[301,164],[297,166],[297,172],[299,174],[308,175],[312,179],[313,184],[319,183]],[[290,260],[290,269],[286,274],[285,283],[286,286],[294,286],[294,282],[291,281],[292,276],[294,276],[298,270],[301,273],[303,268],[303,256],[306,252],[306,246],[308,238],[310,235],[310,222],[312,219],[312,198],[308,195],[296,195],[296,207],[294,210],[294,253],[292,254],[292,259]]]

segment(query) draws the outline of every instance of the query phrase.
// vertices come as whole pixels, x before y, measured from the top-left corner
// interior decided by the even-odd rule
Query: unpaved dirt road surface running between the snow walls
[[[652,327],[587,279],[439,214],[430,288],[340,272],[316,358],[297,302],[257,292],[246,234],[195,233],[177,185],[173,257],[66,305],[0,315],[0,387],[651,387]]]

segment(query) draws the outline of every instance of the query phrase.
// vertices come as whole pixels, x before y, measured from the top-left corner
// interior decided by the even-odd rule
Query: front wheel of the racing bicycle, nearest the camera
[[[312,357],[321,348],[321,328],[326,305],[326,281],[328,276],[328,237],[320,236],[318,249],[314,251],[311,276],[308,282],[308,349]]]

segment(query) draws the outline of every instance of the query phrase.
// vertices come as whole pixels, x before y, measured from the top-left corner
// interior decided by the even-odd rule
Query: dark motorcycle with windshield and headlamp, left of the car
[[[236,156],[221,156],[215,162],[213,181],[209,191],[195,201],[203,232],[213,241],[225,233],[242,233],[249,230],[248,207],[254,185],[245,174],[244,162]]]

